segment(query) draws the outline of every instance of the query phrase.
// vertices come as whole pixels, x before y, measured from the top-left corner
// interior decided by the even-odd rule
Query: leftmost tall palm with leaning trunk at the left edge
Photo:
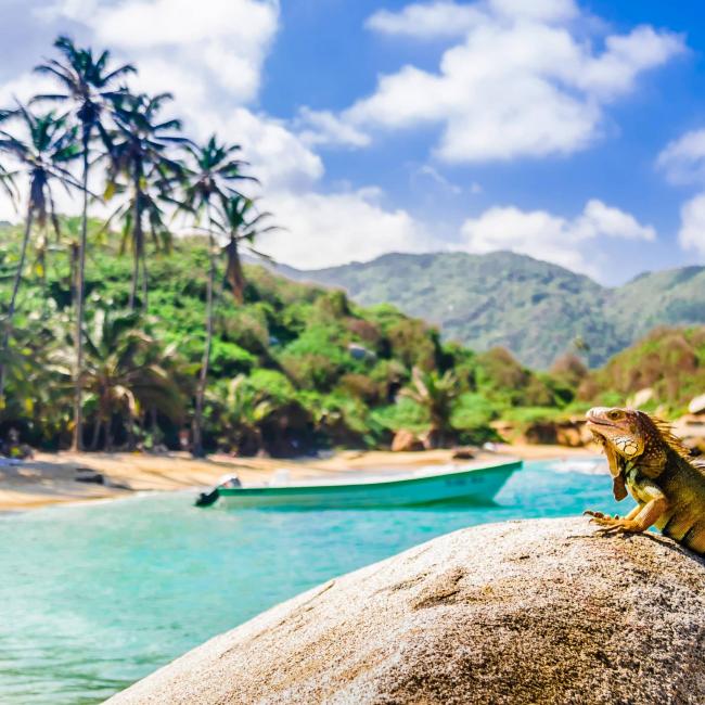
[[[52,219],[55,218],[53,197],[51,195],[52,181],[60,182],[66,188],[82,189],[81,182],[77,181],[67,168],[79,155],[76,128],[68,126],[68,118],[65,115],[56,116],[53,112],[37,116],[24,105],[20,105],[16,111],[13,111],[12,117],[21,120],[27,133],[27,139],[23,141],[10,132],[0,130],[0,151],[11,154],[20,164],[18,169],[26,174],[28,198],[25,231],[20,248],[20,261],[14,275],[2,333],[3,355],[10,342],[17,293],[27,257],[27,245],[33,223],[36,220],[41,227],[44,227],[48,216],[52,217]],[[0,399],[4,395],[4,385],[5,367],[0,362]]]

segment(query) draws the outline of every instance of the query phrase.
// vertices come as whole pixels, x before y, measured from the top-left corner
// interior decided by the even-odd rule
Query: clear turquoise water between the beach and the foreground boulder
[[[0,703],[100,702],[302,590],[464,526],[616,511],[589,470],[529,463],[493,507],[234,513],[190,492],[2,516]]]

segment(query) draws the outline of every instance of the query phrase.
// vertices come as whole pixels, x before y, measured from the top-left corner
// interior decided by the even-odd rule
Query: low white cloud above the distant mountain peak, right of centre
[[[653,241],[656,232],[628,213],[589,201],[573,219],[546,210],[521,210],[513,206],[493,207],[462,225],[464,248],[483,254],[510,249],[555,262],[574,271],[597,274],[591,258],[581,246],[600,236]]]

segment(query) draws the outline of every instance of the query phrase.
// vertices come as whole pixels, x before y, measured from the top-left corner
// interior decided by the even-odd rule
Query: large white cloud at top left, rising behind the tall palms
[[[88,4],[92,12],[86,12]],[[133,62],[139,90],[170,91],[167,116],[181,115],[196,140],[217,132],[243,146],[266,189],[309,188],[323,165],[282,121],[245,105],[256,98],[262,64],[278,29],[277,0],[61,0],[44,18],[82,22],[116,60]]]

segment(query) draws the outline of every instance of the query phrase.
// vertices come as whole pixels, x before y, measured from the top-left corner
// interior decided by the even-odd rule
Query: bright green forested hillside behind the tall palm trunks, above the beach
[[[29,248],[4,358],[0,438],[16,428],[33,446],[70,443],[78,226],[69,219],[51,247],[40,240]],[[21,233],[0,227],[0,313],[10,300]],[[193,415],[206,339],[205,241],[175,239],[169,254],[150,251],[149,298],[138,292],[136,311],[129,310],[133,265],[120,254],[119,239],[91,222],[89,253],[85,443],[178,448],[179,431]],[[495,437],[489,422],[510,409],[557,412],[574,399],[575,382],[565,374],[536,374],[501,349],[476,355],[443,343],[424,321],[392,306],[363,308],[339,291],[261,267],[245,269],[240,302],[223,279],[222,259],[218,271],[207,450],[291,456],[331,446],[388,447],[401,428],[428,430],[431,402],[448,409],[453,440],[482,441]]]

